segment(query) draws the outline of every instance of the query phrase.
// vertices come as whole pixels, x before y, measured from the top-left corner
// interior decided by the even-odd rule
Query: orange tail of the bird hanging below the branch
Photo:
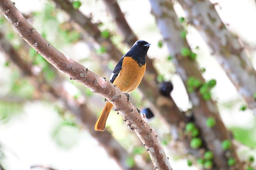
[[[105,107],[95,124],[95,127],[94,127],[95,130],[99,130],[99,131],[105,130],[106,121],[107,121],[109,112],[111,111],[112,108],[113,108],[113,105],[110,102],[107,102],[105,104]]]

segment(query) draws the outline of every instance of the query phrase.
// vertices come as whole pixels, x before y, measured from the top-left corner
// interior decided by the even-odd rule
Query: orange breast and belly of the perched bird
[[[131,57],[124,57],[122,69],[113,82],[123,93],[131,93],[138,86],[145,73],[146,64],[139,64]]]

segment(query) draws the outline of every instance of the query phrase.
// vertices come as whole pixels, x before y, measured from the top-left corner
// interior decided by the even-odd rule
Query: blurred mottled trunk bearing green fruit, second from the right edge
[[[204,82],[199,67],[195,60],[189,57],[182,57],[180,52],[182,47],[189,48],[185,39],[181,39],[180,32],[183,30],[182,25],[178,22],[177,16],[173,10],[173,5],[170,0],[150,0],[152,6],[152,13],[155,15],[157,25],[163,35],[163,39],[168,46],[171,56],[175,56],[174,64],[176,65],[177,73],[185,86],[187,86],[187,79],[193,76]],[[228,131],[226,130],[220,116],[216,104],[212,101],[203,100],[199,89],[192,93],[188,93],[192,102],[192,112],[195,117],[195,123],[200,128],[203,142],[214,154],[214,169],[218,170],[242,170],[243,164],[239,161],[234,145],[231,150],[231,157],[236,159],[235,166],[227,165],[227,157],[221,147],[221,143],[225,139],[230,139]],[[212,128],[206,126],[205,122],[208,117],[213,117],[216,120],[216,125]]]

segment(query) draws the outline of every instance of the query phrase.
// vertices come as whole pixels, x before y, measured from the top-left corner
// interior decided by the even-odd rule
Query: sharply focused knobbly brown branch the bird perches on
[[[131,130],[134,130],[141,142],[145,144],[155,168],[172,169],[155,130],[148,125],[136,107],[127,101],[125,94],[109,81],[54,48],[28,23],[10,0],[1,1],[0,11],[20,36],[49,63],[60,72],[67,74],[70,79],[80,82],[114,105],[124,121],[128,122]]]

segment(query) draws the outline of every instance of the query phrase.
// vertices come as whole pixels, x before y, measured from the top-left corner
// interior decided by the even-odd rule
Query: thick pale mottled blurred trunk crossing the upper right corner
[[[224,23],[209,0],[178,0],[189,23],[200,32],[213,56],[220,63],[238,93],[256,115],[256,71],[238,38],[224,28]]]

